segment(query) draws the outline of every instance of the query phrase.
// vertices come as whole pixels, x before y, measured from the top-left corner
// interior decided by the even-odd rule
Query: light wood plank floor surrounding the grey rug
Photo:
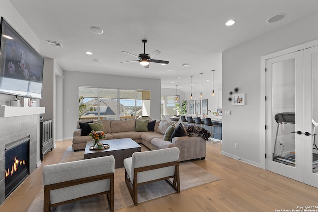
[[[42,165],[5,200],[0,212],[25,212],[43,189],[42,168],[59,161],[71,140],[57,141]],[[129,206],[116,212],[274,212],[318,206],[318,188],[220,154],[221,143],[207,142],[205,160],[194,164],[222,180]]]

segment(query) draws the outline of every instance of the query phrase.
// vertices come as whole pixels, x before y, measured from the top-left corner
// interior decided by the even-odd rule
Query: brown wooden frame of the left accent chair
[[[100,193],[97,193],[97,194],[87,195],[87,196],[75,198],[75,199],[72,199],[72,200],[67,200],[67,201],[63,201],[63,202],[60,202],[60,203],[51,204],[51,200],[50,200],[50,191],[51,190],[65,188],[65,187],[70,187],[70,186],[75,186],[75,185],[79,185],[79,184],[83,184],[83,183],[89,183],[89,182],[98,181],[98,180],[105,180],[105,179],[110,179],[110,189],[109,189],[109,191],[104,191],[104,192],[100,192]],[[103,194],[106,194],[106,196],[107,196],[107,200],[109,202],[110,211],[114,212],[115,209],[114,209],[114,173],[113,172],[112,173],[108,173],[108,174],[101,174],[101,175],[92,176],[92,177],[79,178],[79,179],[75,179],[75,180],[69,180],[69,181],[65,181],[65,182],[45,185],[44,186],[43,211],[44,212],[51,212],[51,208],[52,207],[54,207],[53,211],[55,211],[55,207],[58,206],[58,205],[63,205],[63,204],[67,204],[67,203],[70,203],[70,202],[74,202],[74,201],[78,201],[78,200],[82,200],[82,199],[86,199],[86,198],[90,198],[90,197],[95,197],[95,196],[103,195]]]

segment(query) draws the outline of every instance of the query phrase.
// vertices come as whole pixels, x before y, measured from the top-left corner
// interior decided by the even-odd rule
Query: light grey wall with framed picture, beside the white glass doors
[[[260,166],[260,67],[261,56],[318,39],[318,13],[298,20],[235,48],[223,52],[222,154]],[[264,71],[264,70],[262,70]],[[245,106],[232,106],[229,92],[239,87],[245,93]],[[235,143],[239,149],[235,149]]]

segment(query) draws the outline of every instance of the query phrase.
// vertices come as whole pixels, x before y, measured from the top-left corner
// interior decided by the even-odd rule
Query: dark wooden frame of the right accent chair
[[[138,182],[137,176],[138,176],[139,172],[150,171],[150,170],[169,167],[169,166],[175,166],[174,175],[168,176],[168,177],[163,177],[163,178],[156,179],[156,180],[147,181],[147,182],[137,183]],[[172,177],[173,177],[173,183],[171,183],[168,180]],[[156,164],[156,165],[135,168],[134,169],[134,182],[133,183],[130,181],[129,176],[128,176],[127,171],[126,171],[126,168],[125,168],[125,182],[126,182],[126,185],[128,187],[128,190],[130,192],[130,195],[133,199],[135,206],[138,205],[138,190],[137,190],[138,186],[144,185],[147,183],[160,181],[160,180],[166,180],[177,191],[177,193],[180,193],[179,161],[172,161],[172,162],[168,162],[168,163],[161,163],[161,164]]]

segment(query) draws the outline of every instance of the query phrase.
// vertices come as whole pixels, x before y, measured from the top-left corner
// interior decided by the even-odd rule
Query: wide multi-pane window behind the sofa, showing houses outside
[[[143,116],[150,116],[150,91],[79,87],[79,120]]]

